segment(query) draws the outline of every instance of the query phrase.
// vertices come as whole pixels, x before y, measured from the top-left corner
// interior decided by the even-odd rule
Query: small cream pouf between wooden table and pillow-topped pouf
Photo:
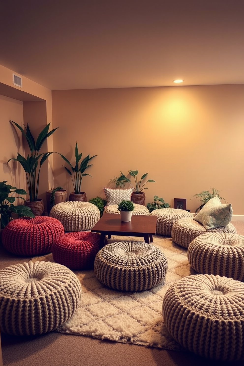
[[[159,208],[153,210],[150,216],[157,216],[156,234],[171,236],[173,224],[180,219],[193,217],[193,214],[186,210],[176,208]]]

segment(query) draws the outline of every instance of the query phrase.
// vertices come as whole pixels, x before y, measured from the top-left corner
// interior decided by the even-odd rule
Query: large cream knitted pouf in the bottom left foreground
[[[11,335],[50,332],[75,313],[81,285],[65,266],[28,262],[0,270],[0,328]]]

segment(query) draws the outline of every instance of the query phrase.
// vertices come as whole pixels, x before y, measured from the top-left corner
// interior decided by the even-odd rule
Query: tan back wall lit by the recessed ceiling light
[[[157,194],[173,206],[211,187],[244,214],[244,85],[173,86],[52,91],[53,148],[74,163],[97,154],[83,178],[87,199],[100,195],[120,171],[149,173],[146,203]],[[64,161],[54,156],[54,182],[71,192]]]

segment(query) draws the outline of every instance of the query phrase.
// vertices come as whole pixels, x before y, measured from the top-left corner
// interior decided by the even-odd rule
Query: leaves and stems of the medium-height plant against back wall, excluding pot
[[[93,155],[90,157],[90,155],[88,154],[80,163],[80,160],[82,158],[82,153],[79,154],[77,142],[75,145],[75,165],[74,165],[74,167],[72,166],[70,161],[68,161],[68,159],[65,158],[65,156],[63,156],[62,154],[60,154],[60,155],[64,159],[64,161],[71,167],[72,172],[70,171],[70,169],[66,168],[63,165],[65,170],[71,176],[73,187],[74,187],[74,193],[79,194],[82,178],[85,177],[86,175],[89,175],[92,178],[92,176],[90,174],[84,173],[87,168],[89,168],[89,167],[91,167],[91,165],[93,165],[93,164],[89,164],[89,165],[87,165],[87,164],[89,163],[89,161],[91,159],[93,159],[97,155]],[[79,163],[80,163],[80,165],[79,165]]]

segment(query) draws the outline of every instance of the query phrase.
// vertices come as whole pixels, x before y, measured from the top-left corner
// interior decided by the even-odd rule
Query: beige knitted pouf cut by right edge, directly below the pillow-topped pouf
[[[224,232],[197,236],[189,244],[189,264],[203,275],[244,281],[244,236]]]

